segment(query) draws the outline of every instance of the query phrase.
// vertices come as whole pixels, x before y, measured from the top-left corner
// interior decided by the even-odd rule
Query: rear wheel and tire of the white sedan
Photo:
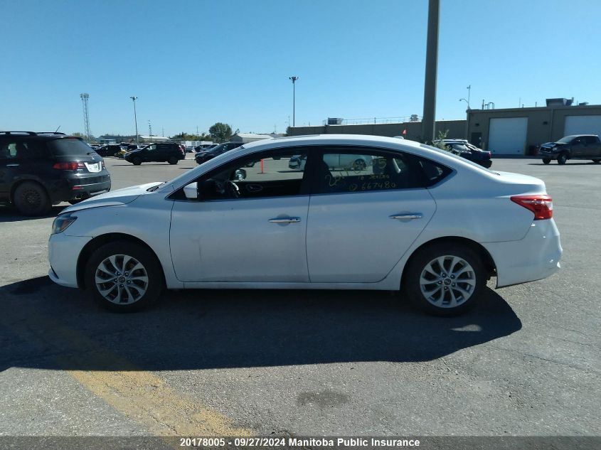
[[[411,257],[403,285],[410,301],[427,314],[457,316],[477,304],[486,286],[486,272],[474,250],[441,242]]]

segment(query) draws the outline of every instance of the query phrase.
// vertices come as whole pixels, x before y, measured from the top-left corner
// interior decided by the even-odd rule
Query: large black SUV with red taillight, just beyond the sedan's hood
[[[0,132],[0,202],[23,215],[43,215],[57,203],[77,203],[110,191],[105,161],[63,133]]]

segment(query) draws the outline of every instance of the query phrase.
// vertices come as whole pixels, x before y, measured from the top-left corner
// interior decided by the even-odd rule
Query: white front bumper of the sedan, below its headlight
[[[63,233],[50,235],[48,238],[48,277],[60,286],[78,287],[78,258],[92,237],[68,236]]]

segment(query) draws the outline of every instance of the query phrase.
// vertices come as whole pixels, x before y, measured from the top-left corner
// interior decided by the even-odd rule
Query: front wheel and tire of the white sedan
[[[134,271],[129,272],[132,268]],[[159,299],[164,277],[154,253],[134,242],[119,240],[92,253],[85,266],[85,286],[103,308],[129,313],[147,308]]]

